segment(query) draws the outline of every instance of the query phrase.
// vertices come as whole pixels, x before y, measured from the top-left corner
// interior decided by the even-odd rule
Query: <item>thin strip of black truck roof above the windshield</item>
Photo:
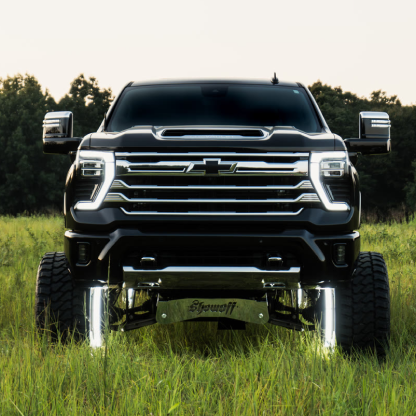
[[[172,85],[172,84],[246,84],[246,85],[270,85],[274,87],[276,85],[284,87],[301,87],[299,82],[279,81],[274,85],[270,80],[265,79],[160,79],[155,81],[132,81],[127,86],[140,87],[146,85]]]

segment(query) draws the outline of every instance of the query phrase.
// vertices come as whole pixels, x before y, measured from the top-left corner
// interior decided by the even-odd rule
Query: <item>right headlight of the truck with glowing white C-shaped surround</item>
[[[348,168],[347,152],[313,152],[310,158],[310,175],[312,184],[322,203],[328,211],[349,211],[345,202],[330,201],[325,192],[323,178],[342,178]]]

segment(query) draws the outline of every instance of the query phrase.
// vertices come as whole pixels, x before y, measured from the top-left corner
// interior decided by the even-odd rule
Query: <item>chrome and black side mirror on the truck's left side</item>
[[[43,120],[43,153],[68,154],[77,150],[80,137],[73,136],[71,111],[46,113]]]

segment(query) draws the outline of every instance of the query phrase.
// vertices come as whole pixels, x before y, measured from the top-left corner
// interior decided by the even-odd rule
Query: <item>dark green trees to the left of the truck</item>
[[[75,136],[96,131],[111,102],[94,78],[76,78],[57,104],[35,77],[0,79],[0,213],[34,213],[62,209],[69,158],[44,155],[42,121],[48,111],[74,112]],[[76,118],[78,116],[78,119]]]

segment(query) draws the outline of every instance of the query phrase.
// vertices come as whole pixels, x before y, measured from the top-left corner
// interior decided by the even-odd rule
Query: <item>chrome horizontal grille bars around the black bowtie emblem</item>
[[[156,203],[163,206],[163,204],[180,204],[180,203],[225,203],[225,204],[292,204],[292,203],[319,203],[320,198],[316,193],[302,193],[292,198],[271,198],[271,199],[238,199],[238,198],[129,198],[124,195],[123,190],[181,190],[181,191],[193,191],[193,190],[225,190],[225,191],[285,191],[285,190],[313,190],[313,185],[310,180],[302,180],[302,176],[307,176],[309,173],[309,153],[296,153],[296,152],[266,152],[266,153],[235,153],[235,152],[183,152],[183,153],[158,153],[158,152],[119,152],[115,154],[116,160],[116,172],[120,177],[111,185],[111,190],[116,192],[109,192],[105,198],[106,202],[124,202],[124,203]],[[143,157],[138,162],[131,161],[131,157]],[[186,156],[186,159],[181,160],[181,156]],[[227,156],[227,159],[221,160],[221,157]],[[231,157],[230,157],[231,156]],[[244,161],[244,157],[256,156],[262,157],[265,161]],[[152,157],[154,162],[146,162],[147,157]],[[164,157],[169,157],[173,160],[164,160]],[[282,161],[277,163],[267,162],[270,157],[281,157]],[[297,160],[288,163],[284,162],[285,157],[296,157]],[[176,159],[177,158],[177,159]],[[299,160],[300,158],[304,158]],[[130,159],[130,160],[129,160]],[[287,159],[286,159],[287,160]],[[128,185],[123,176],[298,176],[299,183],[296,185],[264,185],[264,186],[239,186],[239,185]],[[117,192],[119,191],[119,192]],[[244,192],[243,192],[244,194]],[[146,195],[146,194],[145,194]],[[202,194],[203,195],[203,194]],[[132,196],[132,195],[129,195]],[[198,195],[201,196],[201,195]],[[273,195],[271,195],[273,196]],[[276,193],[276,197],[279,194]],[[282,195],[283,196],[283,195]],[[254,193],[255,197],[255,193]],[[247,198],[247,197],[246,197]],[[253,205],[255,206],[255,205]],[[184,211],[184,212],[158,212],[158,211],[127,211],[127,207],[120,207],[123,213],[126,215],[186,215],[186,216],[296,216],[299,215],[303,207],[296,212],[292,211],[277,211],[277,206],[273,210],[273,205],[270,205],[270,211],[267,212],[235,212],[228,211]],[[157,208],[159,210],[159,208]],[[174,208],[171,211],[175,211]]]

